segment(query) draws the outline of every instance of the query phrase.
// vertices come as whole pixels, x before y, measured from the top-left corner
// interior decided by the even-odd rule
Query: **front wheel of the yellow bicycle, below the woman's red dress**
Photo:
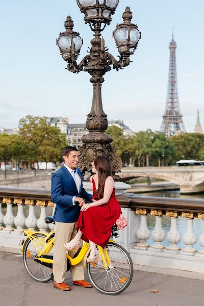
[[[133,278],[133,262],[129,253],[117,243],[109,242],[106,249],[111,261],[108,270],[99,256],[97,264],[87,264],[87,273],[98,291],[116,295],[130,285]]]

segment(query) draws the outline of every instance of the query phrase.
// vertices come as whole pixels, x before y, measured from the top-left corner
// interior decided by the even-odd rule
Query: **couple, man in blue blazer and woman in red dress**
[[[92,163],[90,177],[93,195],[82,187],[82,176],[78,163],[78,149],[65,147],[61,151],[64,165],[52,176],[52,200],[56,203],[54,220],[55,251],[53,261],[54,287],[71,290],[64,283],[66,273],[66,249],[71,257],[82,244],[89,241],[91,252],[87,262],[97,262],[96,244],[105,247],[109,241],[112,226],[119,218],[121,209],[115,198],[115,183],[111,162],[105,156],[97,156]],[[89,204],[85,204],[85,200]],[[77,204],[75,202],[77,201]],[[74,285],[92,287],[84,279],[83,262],[71,267]]]

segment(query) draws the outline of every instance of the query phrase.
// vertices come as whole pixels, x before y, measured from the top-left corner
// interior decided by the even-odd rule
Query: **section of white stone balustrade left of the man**
[[[3,206],[4,210],[7,206],[6,214],[3,214]],[[25,228],[42,232],[54,230],[54,224],[46,224],[44,220],[54,209],[49,190],[0,188],[0,249],[19,252]]]

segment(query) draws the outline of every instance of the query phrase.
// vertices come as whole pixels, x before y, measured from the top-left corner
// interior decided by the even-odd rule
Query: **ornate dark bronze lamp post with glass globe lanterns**
[[[79,33],[73,31],[73,21],[70,16],[65,21],[66,31],[60,33],[57,39],[62,58],[67,62],[66,69],[73,73],[87,71],[91,75],[90,82],[93,84],[92,107],[86,121],[89,134],[82,137],[84,144],[79,148],[78,168],[82,174],[91,170],[91,163],[97,155],[105,155],[110,158],[114,173],[122,168],[122,161],[114,155],[114,148],[110,145],[112,137],[105,134],[108,120],[102,105],[101,84],[104,82],[104,74],[111,68],[118,71],[130,64],[130,55],[135,52],[141,33],[137,25],[131,23],[132,12],[129,7],[126,7],[122,15],[123,23],[118,24],[113,32],[120,54],[119,60],[117,61],[108,52],[105,40],[101,38],[101,32],[106,25],[111,23],[111,16],[115,13],[118,3],[119,0],[77,0],[81,12],[85,15],[85,23],[88,23],[91,31],[94,32],[89,54],[79,64],[77,58],[83,40]]]

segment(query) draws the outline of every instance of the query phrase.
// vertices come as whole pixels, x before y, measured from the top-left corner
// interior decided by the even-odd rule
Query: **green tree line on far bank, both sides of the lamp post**
[[[140,131],[125,137],[122,129],[109,126],[106,134],[113,138],[115,154],[123,163],[136,166],[168,166],[180,159],[204,160],[204,135],[185,133],[166,138],[164,133]],[[42,117],[26,116],[19,121],[19,135],[0,135],[0,161],[19,164],[57,162],[62,147],[67,145],[66,135],[58,127],[46,124]]]

